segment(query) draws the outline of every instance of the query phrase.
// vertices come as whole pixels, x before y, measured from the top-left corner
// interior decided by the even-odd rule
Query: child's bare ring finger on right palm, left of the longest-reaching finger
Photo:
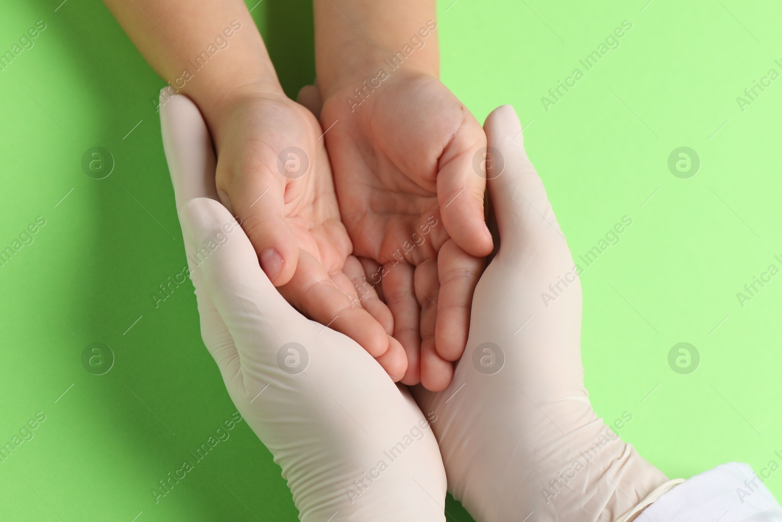
[[[407,355],[407,373],[402,383],[418,384],[421,382],[421,306],[415,298],[415,268],[400,263],[374,273],[384,274],[381,285],[393,314],[393,337],[402,344]]]

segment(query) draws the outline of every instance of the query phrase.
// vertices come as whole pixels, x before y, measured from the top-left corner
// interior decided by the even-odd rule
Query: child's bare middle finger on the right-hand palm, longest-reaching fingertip
[[[439,296],[436,261],[425,261],[415,268],[414,286],[421,304],[421,383],[428,390],[442,391],[454,377],[454,365],[440,357],[435,348]]]

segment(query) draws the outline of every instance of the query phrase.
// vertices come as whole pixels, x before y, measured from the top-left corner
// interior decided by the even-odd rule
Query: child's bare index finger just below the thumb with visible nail
[[[386,330],[364,308],[353,306],[339,290],[323,265],[302,250],[299,264],[290,283],[280,287],[285,299],[300,310],[307,311],[310,319],[344,333],[378,357],[386,353],[389,336]]]

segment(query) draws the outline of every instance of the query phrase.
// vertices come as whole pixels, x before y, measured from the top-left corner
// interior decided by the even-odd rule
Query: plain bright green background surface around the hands
[[[0,444],[36,412],[47,416],[0,463],[0,519],[296,520],[245,423],[154,502],[157,481],[235,409],[200,340],[189,283],[159,308],[151,297],[185,266],[152,104],[164,82],[102,3],[67,0],[55,12],[60,2],[0,7],[2,52],[47,24],[0,72],[0,248],[46,219],[0,268]],[[630,412],[622,437],[670,477],[730,460],[780,463],[782,275],[744,308],[736,293],[768,265],[782,268],[782,80],[743,112],[736,98],[769,68],[782,72],[782,7],[451,2],[439,3],[443,81],[480,121],[516,107],[574,256],[633,219],[582,276],[597,412],[608,421]],[[314,77],[309,5],[265,0],[253,15],[295,94]],[[544,110],[547,90],[622,20],[633,28],[619,49]],[[81,170],[93,146],[116,160],[106,179]],[[679,146],[701,158],[694,178],[668,171]],[[690,375],[667,362],[681,341],[701,355]],[[102,376],[81,365],[93,342],[116,355]],[[778,475],[766,484],[782,496]],[[470,520],[456,502],[447,510]]]

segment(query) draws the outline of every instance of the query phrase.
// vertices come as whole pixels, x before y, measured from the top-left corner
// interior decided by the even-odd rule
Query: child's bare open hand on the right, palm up
[[[475,168],[486,135],[428,74],[395,71],[363,101],[355,87],[335,90],[320,115],[332,125],[325,139],[343,225],[393,313],[407,355],[402,382],[442,390],[465,349],[472,293],[492,250],[485,164]]]

